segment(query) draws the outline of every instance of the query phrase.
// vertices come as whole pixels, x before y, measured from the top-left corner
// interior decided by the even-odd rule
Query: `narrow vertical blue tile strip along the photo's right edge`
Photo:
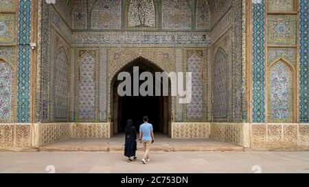
[[[299,121],[309,123],[309,0],[300,1]]]

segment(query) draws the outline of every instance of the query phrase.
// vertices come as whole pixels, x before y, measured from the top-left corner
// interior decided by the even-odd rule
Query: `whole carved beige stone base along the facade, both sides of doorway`
[[[171,123],[172,138],[211,138],[252,150],[309,150],[309,124]],[[111,138],[111,123],[1,123],[0,150],[38,148],[67,138]]]

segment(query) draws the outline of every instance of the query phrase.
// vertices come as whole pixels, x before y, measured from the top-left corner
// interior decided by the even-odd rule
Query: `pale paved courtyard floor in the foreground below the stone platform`
[[[128,163],[122,152],[1,152],[0,173],[309,173],[309,151],[157,151],[145,165],[137,156]]]

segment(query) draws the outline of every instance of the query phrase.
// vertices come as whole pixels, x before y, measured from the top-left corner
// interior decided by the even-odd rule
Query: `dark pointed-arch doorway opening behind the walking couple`
[[[161,68],[155,66],[144,58],[137,58],[122,68],[119,72],[128,72],[133,77],[133,67],[139,67],[139,75],[145,71],[152,73],[155,86],[155,72],[162,72]],[[139,130],[139,125],[143,123],[143,116],[149,117],[149,123],[152,123],[155,132],[160,132],[169,135],[170,132],[170,97],[169,96],[124,96],[120,97],[117,93],[117,88],[122,81],[117,80],[118,75],[115,75],[112,82],[113,98],[112,102],[112,119],[113,119],[113,134],[124,132],[126,121],[133,120],[133,124]],[[144,81],[139,81],[139,86]],[[162,80],[161,80],[162,82]],[[170,86],[170,84],[169,84]],[[131,88],[133,88],[133,81]],[[147,89],[147,88],[146,88]],[[162,91],[161,85],[161,91]],[[170,90],[170,88],[169,88]],[[133,89],[131,89],[133,95]],[[155,87],[153,88],[155,93]]]

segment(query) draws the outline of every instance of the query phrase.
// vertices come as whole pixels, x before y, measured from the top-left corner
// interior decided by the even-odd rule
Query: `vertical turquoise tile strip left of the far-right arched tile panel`
[[[265,121],[265,108],[264,108],[264,0],[253,1],[253,123],[264,123]]]

